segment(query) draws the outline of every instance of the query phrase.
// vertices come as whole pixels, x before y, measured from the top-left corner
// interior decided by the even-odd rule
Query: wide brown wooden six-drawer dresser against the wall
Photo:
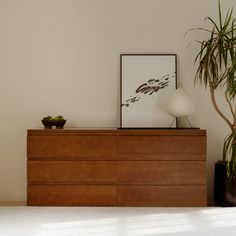
[[[206,131],[28,130],[27,205],[207,205]]]

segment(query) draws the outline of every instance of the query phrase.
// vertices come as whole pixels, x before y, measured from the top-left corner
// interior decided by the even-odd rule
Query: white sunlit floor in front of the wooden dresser
[[[0,207],[1,236],[236,235],[236,208]]]

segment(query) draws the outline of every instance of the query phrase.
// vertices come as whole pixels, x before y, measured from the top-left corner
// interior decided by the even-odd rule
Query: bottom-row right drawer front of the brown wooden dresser
[[[118,186],[118,206],[204,207],[205,186]]]

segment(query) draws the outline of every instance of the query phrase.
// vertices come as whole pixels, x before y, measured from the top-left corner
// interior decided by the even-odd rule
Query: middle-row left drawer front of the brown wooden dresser
[[[28,161],[28,183],[115,183],[114,161]]]

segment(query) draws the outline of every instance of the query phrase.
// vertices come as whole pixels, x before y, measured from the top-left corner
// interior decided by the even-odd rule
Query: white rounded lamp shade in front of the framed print
[[[186,117],[195,112],[195,104],[183,88],[178,88],[167,104],[167,112],[174,117]]]

